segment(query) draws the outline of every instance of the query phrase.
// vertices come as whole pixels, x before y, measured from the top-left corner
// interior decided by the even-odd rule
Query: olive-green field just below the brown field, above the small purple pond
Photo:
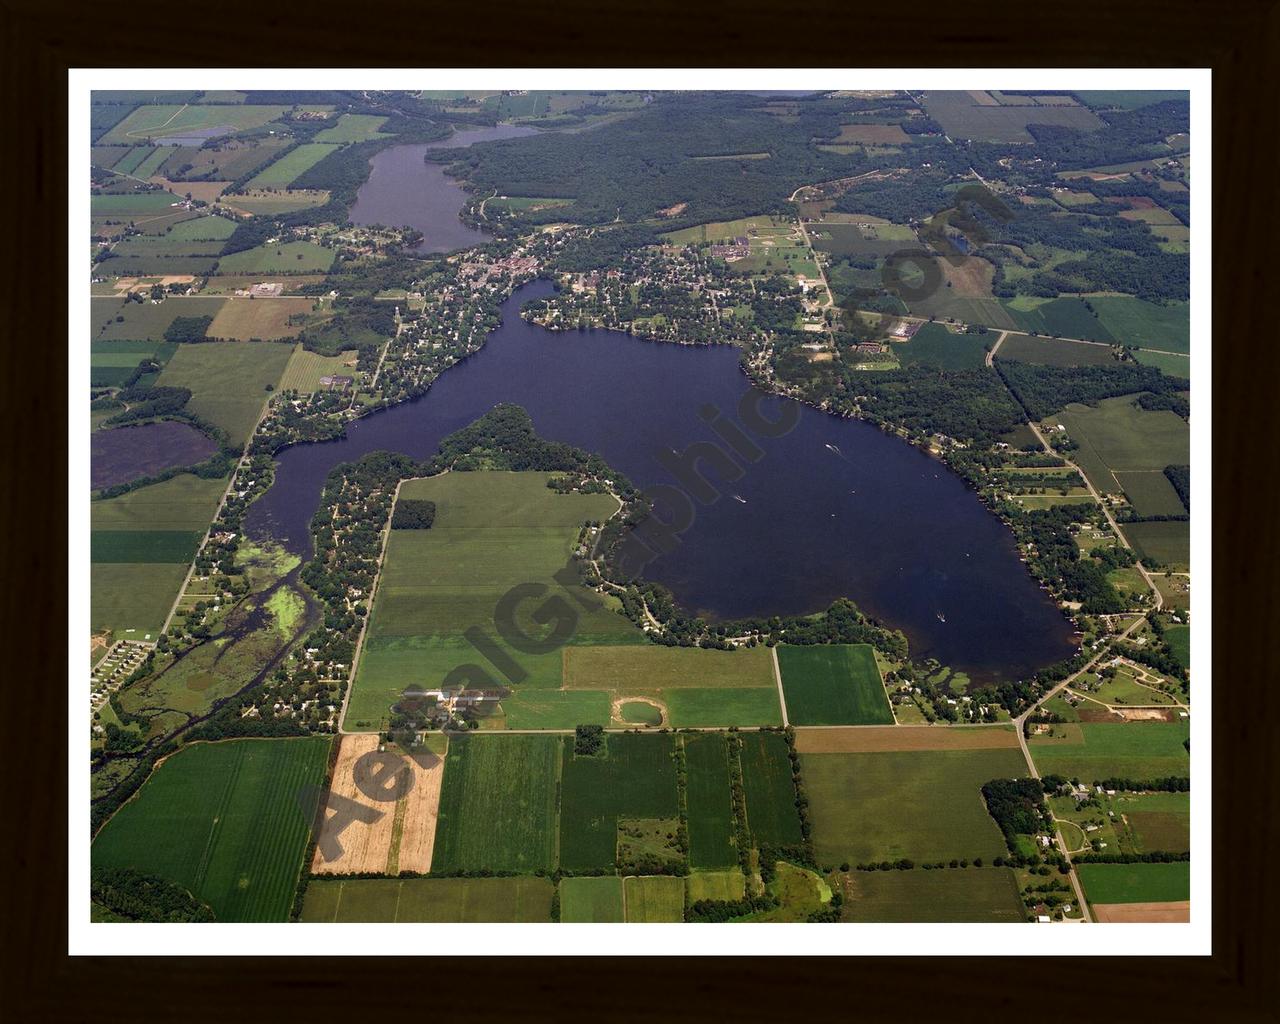
[[[230,435],[248,440],[266,403],[266,385],[279,387],[293,355],[288,344],[206,342],[184,344],[169,360],[157,384],[191,389],[187,408]]]

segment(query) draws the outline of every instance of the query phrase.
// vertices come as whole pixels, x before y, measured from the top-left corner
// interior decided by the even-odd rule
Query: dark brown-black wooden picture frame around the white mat
[[[863,1019],[1121,1014],[1280,1018],[1280,818],[1271,643],[1277,458],[1263,411],[1276,288],[1274,136],[1280,6],[627,0],[184,9],[0,6],[9,270],[4,673],[6,799],[0,1012],[10,1020],[402,1010],[449,1020]],[[1213,69],[1213,954],[1207,957],[489,960],[466,929],[406,957],[67,955],[67,70],[77,67],[1211,67]],[[714,72],[708,73],[709,83]],[[1271,143],[1271,145],[1267,145]],[[1272,152],[1271,157],[1266,154]],[[1262,412],[1263,415],[1257,415]],[[1193,424],[1193,429],[1198,424]],[[214,925],[216,927],[216,925]],[[280,942],[287,942],[280,933]],[[1271,948],[1271,952],[1267,952]],[[357,954],[357,950],[343,952]],[[530,950],[540,952],[540,950]],[[980,950],[956,950],[980,954]],[[429,956],[430,960],[410,959]],[[443,972],[442,972],[443,968]],[[1092,1007],[1092,1009],[1091,1009]]]

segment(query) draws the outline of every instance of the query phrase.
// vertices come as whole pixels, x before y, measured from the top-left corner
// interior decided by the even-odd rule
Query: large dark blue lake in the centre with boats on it
[[[250,535],[308,556],[307,524],[334,465],[378,449],[426,458],[498,402],[524,406],[540,435],[598,452],[641,488],[675,483],[660,460],[717,439],[700,413],[737,419],[750,388],[737,349],[553,333],[520,319],[524,302],[552,291],[520,288],[484,348],[422,398],[353,422],[344,440],[282,452],[275,484],[250,509]],[[902,630],[913,657],[978,681],[1074,652],[1070,622],[1007,527],[941,462],[870,424],[758,397],[769,417],[790,404],[796,426],[754,438],[763,456],[740,479],[712,476],[722,497],[698,506],[646,577],[714,618],[817,612],[849,596]]]

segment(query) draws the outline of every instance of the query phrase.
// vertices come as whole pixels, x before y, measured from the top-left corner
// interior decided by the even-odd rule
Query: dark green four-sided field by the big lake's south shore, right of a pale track
[[[891,726],[869,644],[777,648],[787,718],[796,726]]]

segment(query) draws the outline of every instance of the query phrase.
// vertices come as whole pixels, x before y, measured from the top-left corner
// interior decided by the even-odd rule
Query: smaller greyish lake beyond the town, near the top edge
[[[531,134],[538,134],[538,129],[499,124],[454,132],[442,142],[385,148],[369,161],[372,170],[356,193],[351,220],[353,224],[417,228],[424,239],[416,252],[449,252],[479,244],[489,236],[458,219],[467,201],[466,189],[444,173],[443,164],[426,163],[426,151]]]

